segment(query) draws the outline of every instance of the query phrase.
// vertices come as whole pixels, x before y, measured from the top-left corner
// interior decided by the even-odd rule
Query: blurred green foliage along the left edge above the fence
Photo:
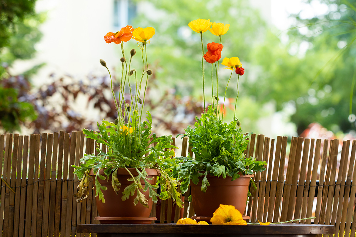
[[[8,72],[15,60],[30,59],[36,53],[35,44],[42,36],[38,27],[44,15],[35,13],[35,2],[0,1],[0,128],[5,131],[19,130],[21,122],[36,118],[33,105],[19,100],[24,93],[23,87],[15,86],[19,77]],[[42,65],[23,72],[22,78],[29,80]]]

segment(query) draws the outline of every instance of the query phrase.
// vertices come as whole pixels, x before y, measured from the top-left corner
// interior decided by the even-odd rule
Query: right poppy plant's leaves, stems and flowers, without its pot
[[[235,102],[235,111],[237,98],[239,97],[239,78],[244,75],[245,69],[242,68],[240,59],[237,57],[224,58],[221,64],[226,66],[226,69],[231,70],[229,81],[227,82],[222,111],[220,112],[218,84],[219,84],[219,62],[223,45],[221,44],[221,35],[225,34],[230,24],[211,23],[210,20],[198,19],[188,24],[193,31],[200,33],[201,49],[203,52],[202,68],[203,68],[203,96],[205,108],[205,92],[204,92],[204,59],[211,64],[211,104],[207,111],[201,114],[201,118],[196,117],[195,128],[188,126],[184,134],[178,136],[187,136],[189,145],[192,146],[192,151],[195,157],[178,157],[177,176],[181,181],[180,190],[182,193],[187,192],[190,181],[198,184],[199,177],[204,176],[201,180],[201,190],[205,193],[209,186],[208,176],[222,176],[223,178],[231,177],[235,180],[240,175],[254,174],[255,172],[264,171],[267,165],[266,162],[257,161],[252,156],[245,157],[244,151],[247,149],[247,138],[251,135],[244,135],[242,129],[239,128],[241,123],[237,119],[236,114],[232,121],[223,122],[226,91],[232,76],[235,71],[237,78],[237,96]],[[210,28],[212,26],[212,28]],[[208,43],[208,52],[204,54],[203,32],[209,31],[216,36],[219,36],[219,43]],[[216,65],[218,63],[218,65]],[[215,65],[215,72],[213,72]],[[214,95],[213,77],[216,75],[216,91]],[[216,103],[214,103],[214,98]],[[252,179],[251,179],[252,181]],[[252,181],[253,183],[253,181]],[[253,184],[254,185],[254,184]]]

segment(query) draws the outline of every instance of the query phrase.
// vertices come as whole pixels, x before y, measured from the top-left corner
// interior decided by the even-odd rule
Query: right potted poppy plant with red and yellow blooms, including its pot
[[[203,98],[204,113],[196,117],[195,127],[188,126],[184,134],[178,136],[189,138],[189,145],[195,157],[177,157],[177,173],[181,182],[182,193],[191,187],[189,201],[192,201],[195,214],[200,217],[211,217],[220,204],[233,205],[241,213],[246,208],[248,187],[255,172],[264,171],[266,162],[257,161],[253,157],[245,157],[247,138],[244,135],[240,121],[236,117],[236,103],[239,97],[239,78],[245,69],[238,57],[224,58],[224,69],[231,70],[227,82],[224,100],[219,101],[219,64],[223,44],[221,36],[228,30],[230,24],[212,23],[210,20],[198,19],[188,24],[193,31],[200,33],[203,68]],[[210,28],[211,27],[211,28]],[[206,31],[219,36],[220,43],[208,43],[208,51],[204,54],[203,33]],[[211,64],[211,104],[205,108],[204,90],[204,60]],[[213,69],[215,68],[215,72]],[[237,74],[237,96],[234,118],[229,123],[224,121],[224,106],[226,91],[232,74]],[[216,88],[213,88],[213,76],[216,75]],[[215,80],[215,79],[214,79]],[[214,92],[215,90],[215,92]],[[220,111],[222,108],[222,111]],[[253,181],[252,184],[254,185]],[[209,187],[209,188],[208,188]],[[256,186],[255,186],[256,187]]]

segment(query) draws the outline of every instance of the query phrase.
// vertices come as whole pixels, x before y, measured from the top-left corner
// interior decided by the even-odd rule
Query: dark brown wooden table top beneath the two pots
[[[77,225],[78,233],[98,233],[98,237],[124,237],[124,236],[316,236],[318,234],[334,234],[335,227],[317,224],[273,224],[262,225],[176,225],[150,224],[150,225]]]

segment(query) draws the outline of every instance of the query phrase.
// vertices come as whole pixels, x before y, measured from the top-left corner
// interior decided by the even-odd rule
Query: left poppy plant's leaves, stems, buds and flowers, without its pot
[[[176,161],[174,158],[174,148],[176,146],[171,145],[172,136],[156,136],[152,133],[152,116],[147,111],[147,120],[141,120],[143,104],[145,102],[146,88],[148,75],[152,74],[152,70],[148,69],[147,55],[146,61],[144,60],[143,52],[147,47],[148,39],[155,34],[155,29],[147,27],[142,29],[140,27],[133,29],[132,26],[126,26],[121,31],[112,33],[109,32],[104,37],[106,43],[114,42],[116,44],[121,43],[122,62],[121,68],[121,83],[119,91],[119,103],[116,101],[115,91],[112,87],[111,80],[111,92],[114,98],[117,118],[114,122],[108,122],[103,120],[101,124],[98,123],[99,132],[93,130],[83,129],[83,133],[87,138],[93,139],[97,142],[96,148],[97,155],[84,154],[84,157],[80,160],[80,166],[73,166],[75,168],[74,173],[81,179],[78,185],[78,193],[75,194],[77,202],[87,198],[89,194],[89,172],[92,170],[94,174],[94,185],[96,186],[95,196],[99,196],[99,200],[105,202],[103,190],[107,188],[99,183],[99,179],[110,180],[111,186],[114,191],[119,194],[122,193],[122,200],[128,199],[130,196],[135,195],[133,204],[141,203],[148,208],[148,200],[142,194],[149,190],[149,198],[152,198],[153,202],[157,202],[157,197],[161,199],[171,198],[176,201],[177,205],[182,208],[183,201],[180,199],[180,193],[177,191],[177,185],[180,183],[172,176],[172,169],[176,168]],[[145,37],[142,38],[141,36]],[[137,82],[136,70],[130,69],[131,60],[136,54],[136,50],[130,51],[130,61],[127,65],[125,59],[123,42],[129,41],[133,37],[136,41],[141,42],[139,47],[142,49],[142,61],[143,70],[141,79]],[[145,51],[146,54],[146,51]],[[100,60],[101,65],[106,69],[106,62]],[[146,64],[146,65],[145,65]],[[126,72],[124,73],[124,70]],[[109,71],[109,69],[108,69]],[[110,74],[110,71],[109,71]],[[143,77],[146,77],[145,90],[143,91],[143,99],[141,95],[141,84]],[[135,76],[135,93],[131,90],[130,77]],[[126,81],[129,84],[131,104],[126,104],[124,99],[124,89]],[[133,95],[134,94],[134,95]],[[142,104],[142,106],[139,106]],[[139,113],[141,109],[141,112]],[[100,144],[106,146],[106,151],[100,149]],[[124,190],[120,190],[120,182],[117,178],[117,169],[124,168],[129,173],[131,178],[127,179],[132,183]],[[129,168],[134,168],[138,175],[133,176]],[[150,184],[148,181],[152,178],[147,177],[146,168],[154,168],[159,171],[157,183]],[[99,170],[103,170],[104,175],[99,173]],[[141,180],[144,181],[145,187],[141,184]],[[161,185],[161,194],[157,194],[156,189],[158,184]]]

